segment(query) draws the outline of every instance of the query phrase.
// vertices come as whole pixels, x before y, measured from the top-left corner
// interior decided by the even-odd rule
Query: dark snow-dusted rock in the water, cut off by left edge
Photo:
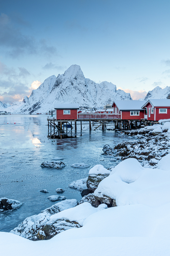
[[[0,198],[0,212],[8,211],[8,210],[15,210],[19,208],[23,203],[17,200],[8,199],[6,197]]]

